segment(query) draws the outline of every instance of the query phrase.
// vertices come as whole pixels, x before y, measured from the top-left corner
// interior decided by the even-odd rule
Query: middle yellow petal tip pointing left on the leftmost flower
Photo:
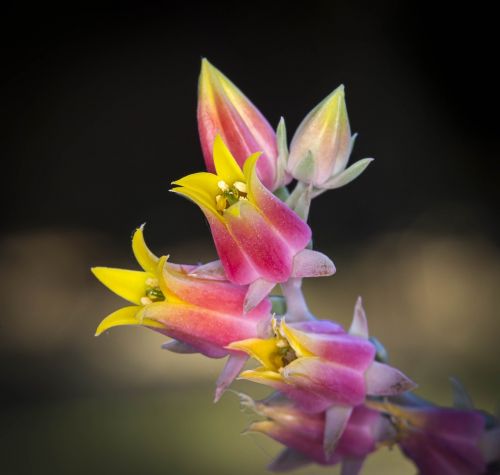
[[[146,293],[148,273],[111,267],[93,267],[91,270],[115,294],[137,305],[141,303]]]

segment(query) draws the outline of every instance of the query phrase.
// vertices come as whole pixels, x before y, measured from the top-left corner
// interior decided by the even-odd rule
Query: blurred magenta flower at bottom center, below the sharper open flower
[[[342,464],[342,473],[357,475],[365,458],[377,447],[394,437],[389,419],[366,406],[357,406],[332,454],[323,450],[325,413],[309,414],[290,402],[253,401],[240,395],[244,405],[267,420],[254,422],[249,431],[261,432],[286,448],[269,469],[283,472],[311,462],[320,465]]]

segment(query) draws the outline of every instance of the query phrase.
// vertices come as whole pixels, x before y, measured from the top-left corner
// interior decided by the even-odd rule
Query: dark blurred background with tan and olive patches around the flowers
[[[418,393],[499,401],[497,84],[479,4],[421,2],[3,7],[1,23],[0,471],[264,474],[278,446],[240,436],[251,417],[221,361],[178,356],[142,329],[100,338],[121,301],[89,267],[134,268],[147,222],[158,254],[215,256],[199,210],[168,192],[202,167],[196,88],[206,56],[291,133],[345,84],[358,180],[313,205],[315,246],[337,275],[305,283],[312,309],[371,332]],[[496,119],[496,120],[495,120]],[[237,383],[255,396],[261,388]],[[338,473],[311,467],[298,473]],[[384,449],[366,474],[414,474]]]

